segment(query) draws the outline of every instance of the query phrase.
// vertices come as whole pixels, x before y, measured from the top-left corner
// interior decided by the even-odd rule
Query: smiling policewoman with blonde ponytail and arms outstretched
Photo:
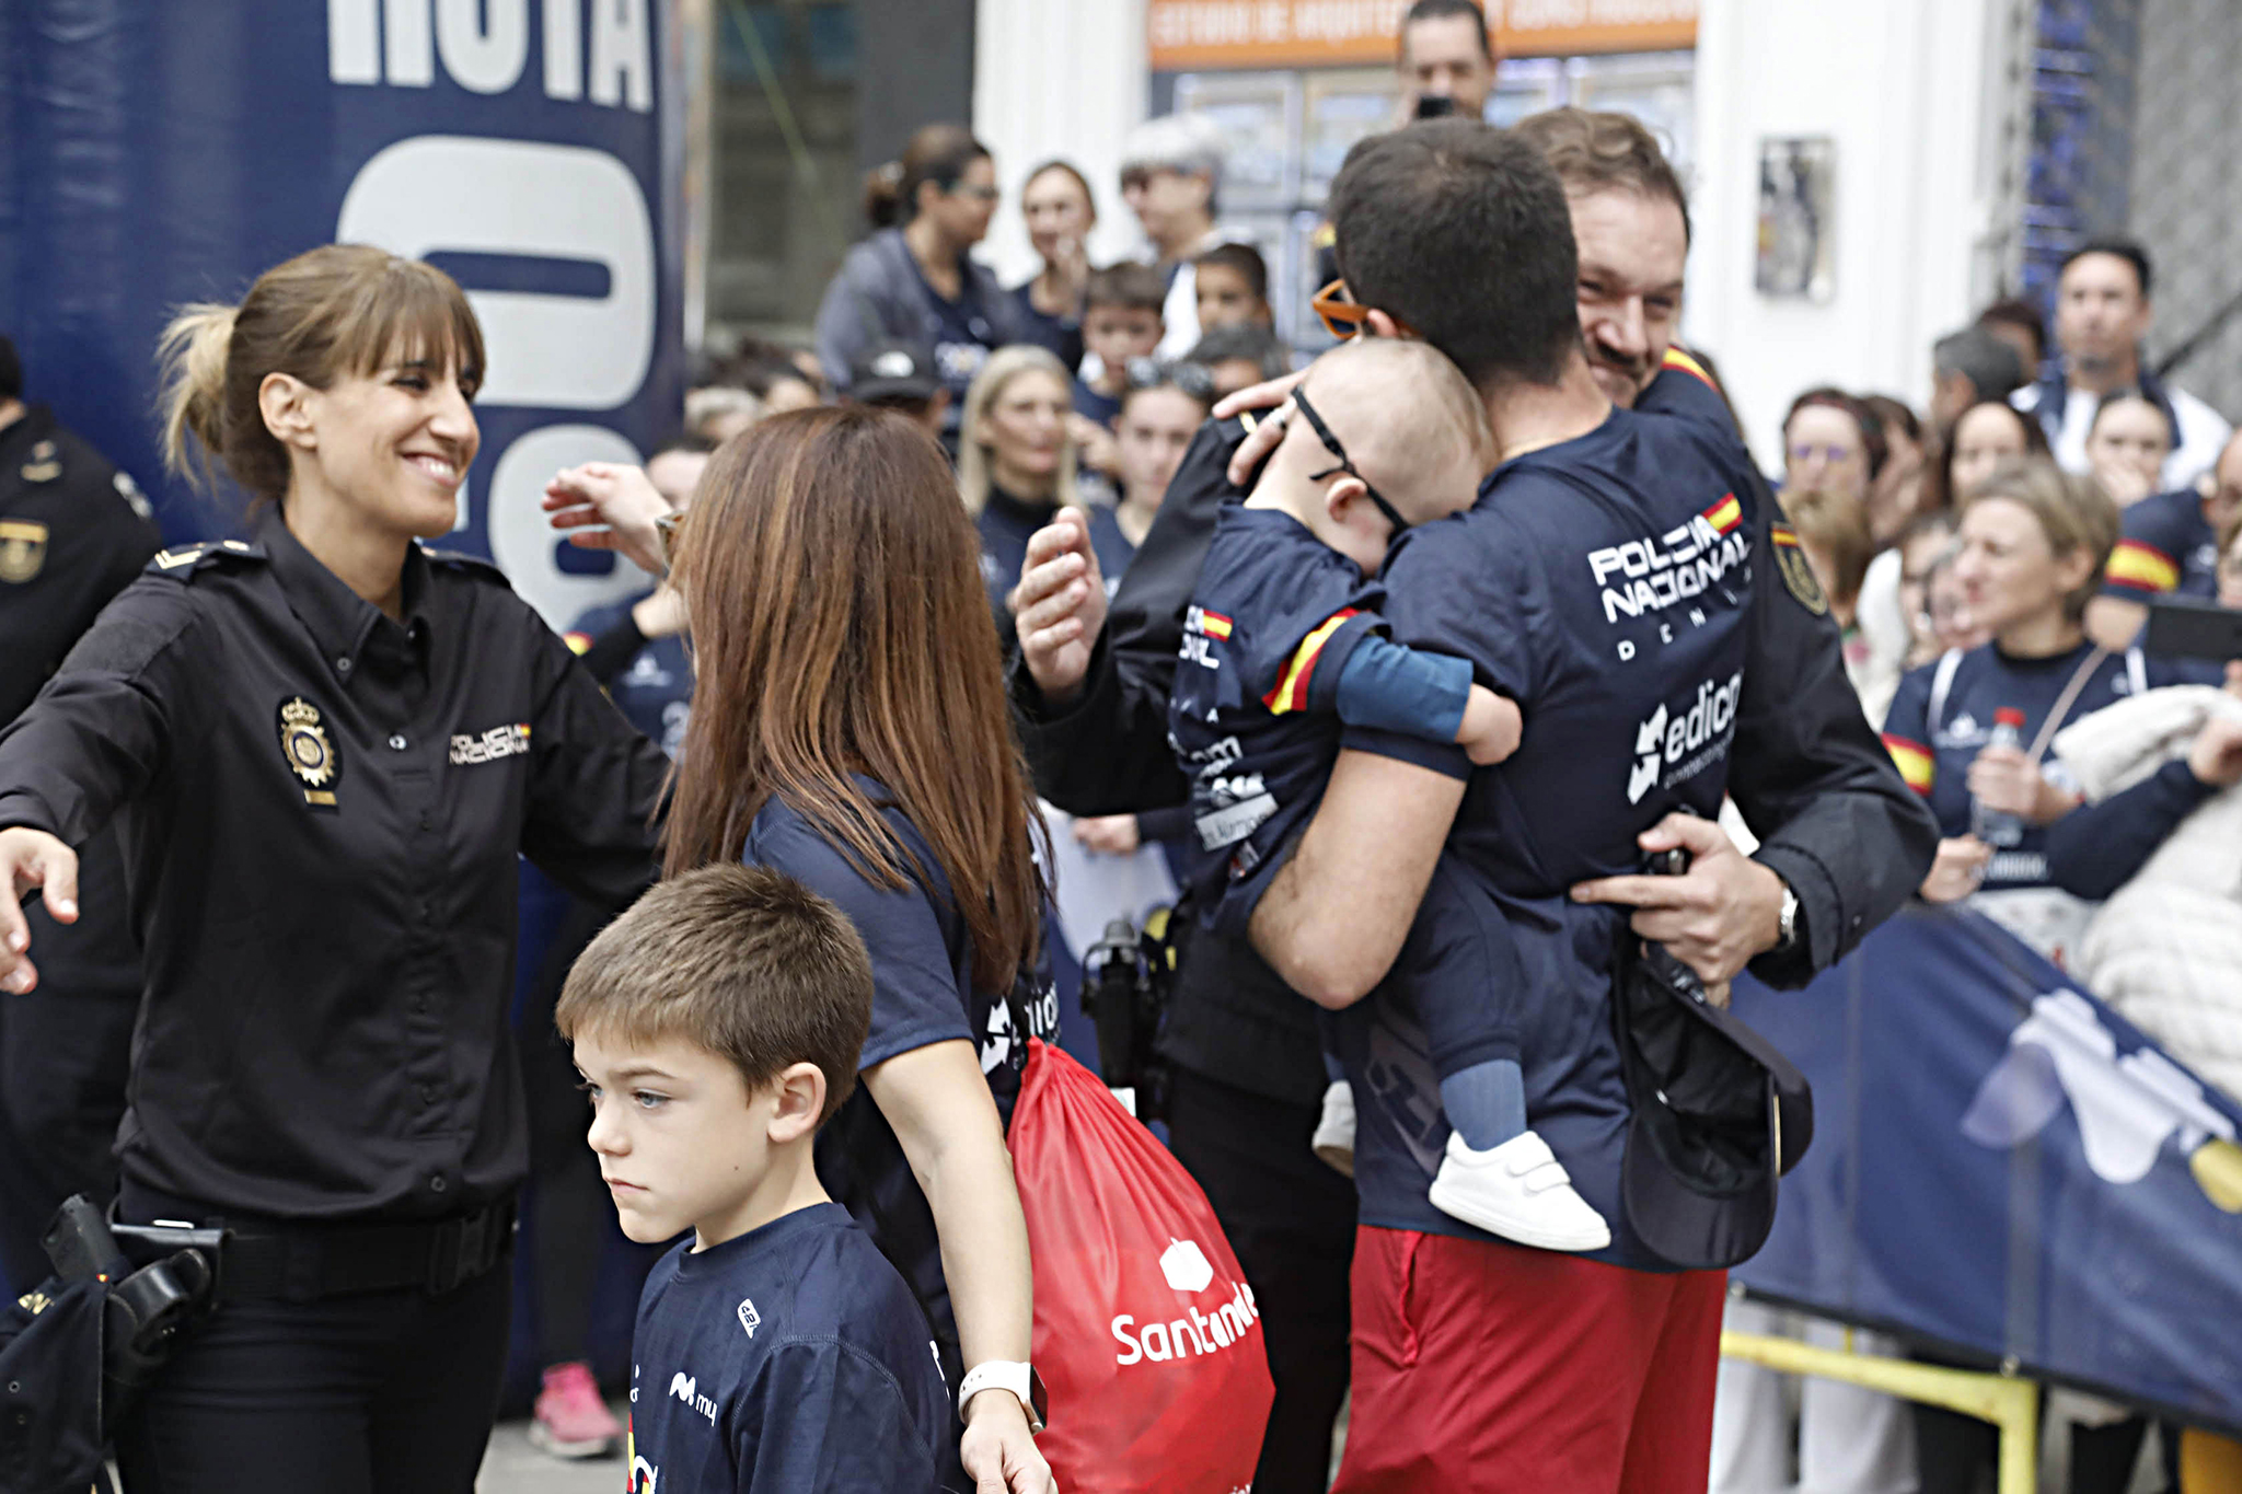
[[[137,1494],[469,1490],[525,1169],[516,853],[623,905],[666,759],[453,529],[482,332],[442,271],[325,246],[193,307],[170,457],[249,542],[157,555],[0,737],[0,876],[70,921],[119,820],[146,995],[132,1223],[233,1230],[222,1306],[121,1434]],[[0,983],[29,988],[0,900]],[[31,952],[36,954],[36,952]]]

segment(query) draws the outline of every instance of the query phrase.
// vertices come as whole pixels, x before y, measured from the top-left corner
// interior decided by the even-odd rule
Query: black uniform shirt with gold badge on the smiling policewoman
[[[0,827],[121,829],[128,1201],[439,1218],[511,1194],[518,858],[628,905],[666,773],[482,560],[410,547],[399,620],[276,508],[159,553],[0,735]]]

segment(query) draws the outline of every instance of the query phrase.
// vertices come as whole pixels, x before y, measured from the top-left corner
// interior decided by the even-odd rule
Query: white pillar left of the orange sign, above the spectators
[[[1143,121],[1146,0],[980,0],[973,16],[973,134],[995,155],[1004,204],[980,258],[1004,284],[1043,262],[1027,244],[1020,188],[1060,157],[1099,204],[1090,262],[1110,264],[1143,242],[1121,204],[1121,137]]]

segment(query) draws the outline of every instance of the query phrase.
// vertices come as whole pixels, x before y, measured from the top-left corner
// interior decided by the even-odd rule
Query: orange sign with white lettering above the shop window
[[[1408,0],[1152,0],[1155,72],[1392,63]],[[1489,0],[1502,56],[1697,45],[1697,0]]]

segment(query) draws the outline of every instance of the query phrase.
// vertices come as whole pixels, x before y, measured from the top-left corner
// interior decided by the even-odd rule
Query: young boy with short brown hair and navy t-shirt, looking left
[[[809,1156],[870,1019],[856,930],[765,867],[661,883],[569,972],[554,1021],[623,1234],[691,1230],[639,1297],[632,1494],[942,1487],[926,1315]]]

